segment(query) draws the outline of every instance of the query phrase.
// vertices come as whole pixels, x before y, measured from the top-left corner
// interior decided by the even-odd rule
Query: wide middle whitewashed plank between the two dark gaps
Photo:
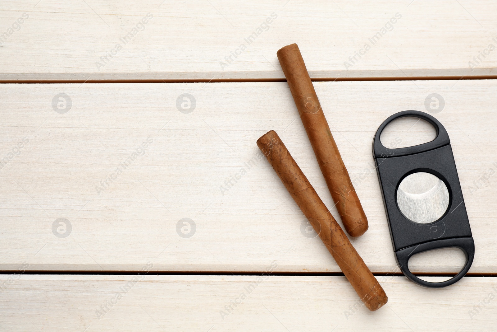
[[[426,111],[425,99],[437,93],[444,107],[434,115],[451,138],[476,243],[470,272],[496,273],[497,177],[489,170],[497,169],[497,82],[315,86],[369,219],[366,234],[351,241],[371,270],[398,271],[372,166],[373,135],[394,112]],[[3,84],[0,91],[1,158],[13,152],[0,169],[0,270],[27,262],[30,270],[138,271],[151,261],[162,271],[262,271],[277,260],[279,272],[339,271],[257,157],[256,139],[276,130],[339,221],[285,82]],[[70,96],[66,113],[54,111],[61,111],[57,103],[64,107],[59,97],[52,104],[59,94]],[[194,96],[190,113],[178,111],[182,102],[188,106],[182,99],[176,104],[183,94]],[[432,130],[404,124],[387,132],[387,142]],[[142,153],[142,144],[145,153],[121,165]],[[59,218],[67,219],[66,229]],[[455,272],[461,257],[448,255],[428,254],[410,266]]]

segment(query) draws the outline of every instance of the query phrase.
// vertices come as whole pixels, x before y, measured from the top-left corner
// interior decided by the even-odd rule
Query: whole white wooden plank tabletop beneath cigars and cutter
[[[495,331],[495,1],[161,2],[0,3],[1,331]],[[368,216],[351,242],[389,297],[377,312],[257,158],[276,130],[333,207],[276,58],[293,42]],[[447,129],[476,244],[444,289],[395,263],[371,143],[404,110]],[[384,142],[433,133],[408,118]]]

